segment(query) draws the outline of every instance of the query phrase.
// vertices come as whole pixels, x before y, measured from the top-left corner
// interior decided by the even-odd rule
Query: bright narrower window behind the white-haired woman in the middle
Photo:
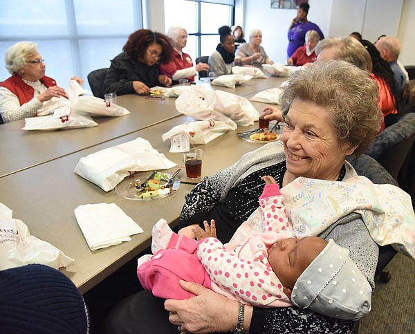
[[[183,26],[187,30],[185,53],[193,61],[211,55],[219,44],[218,29],[232,26],[234,1],[164,0],[165,28]]]

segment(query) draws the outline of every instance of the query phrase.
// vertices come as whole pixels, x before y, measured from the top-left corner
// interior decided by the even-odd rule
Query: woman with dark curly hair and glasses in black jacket
[[[168,37],[140,29],[128,37],[122,50],[111,60],[104,80],[106,93],[148,94],[151,87],[172,84],[171,78],[160,73],[160,63],[170,62],[174,52]]]

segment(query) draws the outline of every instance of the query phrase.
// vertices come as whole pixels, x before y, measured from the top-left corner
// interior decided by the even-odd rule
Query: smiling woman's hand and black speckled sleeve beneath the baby
[[[193,282],[181,287],[196,295],[190,299],[167,299],[169,320],[182,331],[216,333],[231,331],[237,325],[239,303]],[[353,322],[326,317],[311,310],[294,307],[257,308],[245,306],[243,327],[250,334],[350,333]]]

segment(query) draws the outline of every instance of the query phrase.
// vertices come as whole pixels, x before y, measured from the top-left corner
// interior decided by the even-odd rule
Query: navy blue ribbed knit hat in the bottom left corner
[[[0,332],[85,334],[89,315],[82,295],[62,272],[30,264],[0,271]]]

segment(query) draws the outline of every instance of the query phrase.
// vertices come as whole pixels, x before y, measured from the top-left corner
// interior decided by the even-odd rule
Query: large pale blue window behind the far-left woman
[[[110,66],[127,37],[142,28],[140,0],[0,0],[0,55],[18,41],[33,41],[46,75],[59,86],[77,75]],[[10,74],[0,68],[0,81]]]

